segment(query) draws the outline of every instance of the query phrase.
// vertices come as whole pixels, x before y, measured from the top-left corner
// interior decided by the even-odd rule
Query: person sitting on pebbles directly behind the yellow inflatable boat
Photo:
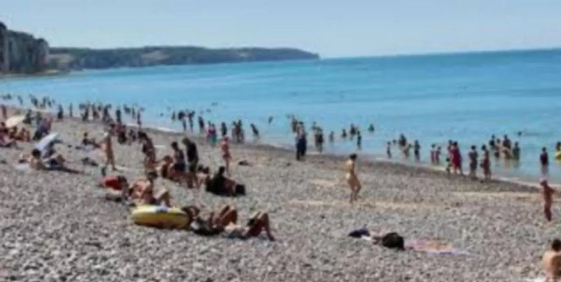
[[[155,171],[146,174],[146,177],[140,177],[130,185],[130,194],[133,201],[138,204],[165,204],[170,207],[169,191],[161,189],[158,193],[154,193],[154,180],[158,178]]]

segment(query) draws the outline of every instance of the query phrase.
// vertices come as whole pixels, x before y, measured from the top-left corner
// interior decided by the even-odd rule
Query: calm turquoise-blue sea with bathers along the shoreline
[[[419,140],[420,165],[429,162],[433,143],[445,150],[449,139],[457,140],[467,154],[492,134],[507,134],[519,142],[521,162],[493,160],[495,174],[539,179],[539,153],[546,147],[550,178],[561,180],[553,160],[561,140],[561,49],[85,70],[0,80],[0,93],[48,95],[75,105],[136,103],[145,108],[145,125],[177,130],[171,111],[196,110],[217,124],[254,123],[259,142],[289,148],[288,116],[295,115],[308,127],[317,122],[326,139],[335,132],[324,153],[380,159],[385,143],[403,133]],[[370,123],[374,133],[367,131]],[[356,140],[339,138],[350,124],[361,129],[360,151]],[[396,148],[393,154],[407,162]]]

